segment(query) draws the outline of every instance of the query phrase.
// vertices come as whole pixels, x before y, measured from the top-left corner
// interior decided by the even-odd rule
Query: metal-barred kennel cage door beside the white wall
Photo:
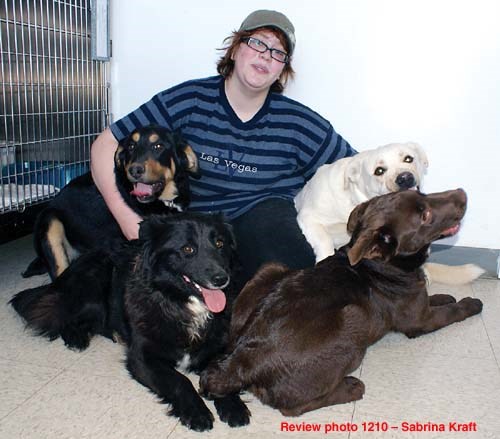
[[[0,0],[0,214],[52,198],[89,169],[109,115],[108,63],[91,55],[91,6]]]

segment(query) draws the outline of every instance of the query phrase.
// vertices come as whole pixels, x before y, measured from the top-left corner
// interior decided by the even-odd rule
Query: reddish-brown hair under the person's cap
[[[261,27],[251,31],[234,31],[233,34],[224,40],[226,46],[220,50],[225,50],[225,53],[217,62],[217,72],[224,78],[229,78],[234,70],[234,61],[232,60],[233,54],[236,52],[238,46],[243,42],[244,38],[252,36],[259,30],[266,30],[272,32],[280,40],[285,51],[289,52],[288,39],[280,30],[274,27]],[[293,79],[295,71],[292,68],[291,58],[285,64],[280,77],[271,85],[271,91],[276,93],[283,93],[286,84],[289,80]]]

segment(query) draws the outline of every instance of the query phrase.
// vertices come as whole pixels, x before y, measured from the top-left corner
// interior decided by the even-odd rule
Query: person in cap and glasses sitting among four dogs
[[[94,142],[95,183],[128,239],[142,220],[114,183],[118,141],[157,123],[180,131],[197,153],[201,178],[191,184],[190,210],[222,212],[233,224],[244,277],[264,262],[314,265],[296,221],[293,197],[319,166],[354,149],[330,122],[283,96],[293,78],[295,30],[280,12],[252,12],[225,42],[218,76],[184,82],[112,124]]]

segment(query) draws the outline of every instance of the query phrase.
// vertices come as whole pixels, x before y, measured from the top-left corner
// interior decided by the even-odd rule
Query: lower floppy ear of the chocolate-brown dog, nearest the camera
[[[364,229],[357,234],[354,244],[347,251],[347,257],[351,265],[356,265],[361,259],[387,260],[396,248],[397,240],[387,228]]]

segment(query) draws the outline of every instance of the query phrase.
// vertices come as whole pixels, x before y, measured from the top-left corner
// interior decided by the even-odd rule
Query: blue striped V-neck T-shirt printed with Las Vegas
[[[180,131],[198,156],[201,178],[191,180],[190,210],[229,219],[267,198],[293,199],[319,166],[356,153],[326,119],[278,93],[242,122],[222,76],[158,93],[111,131],[121,140],[150,123]]]

